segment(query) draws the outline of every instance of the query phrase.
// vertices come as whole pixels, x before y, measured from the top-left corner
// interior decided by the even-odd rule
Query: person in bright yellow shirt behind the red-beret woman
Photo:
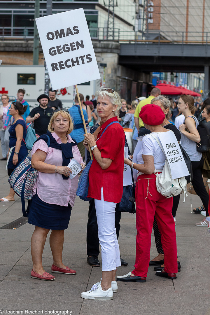
[[[145,100],[141,100],[136,107],[136,110],[134,113],[134,123],[136,125],[137,130],[138,130],[138,136],[139,137],[150,133],[150,130],[145,128],[143,121],[141,120],[141,118],[139,118],[139,113],[140,113],[143,106],[150,104],[151,100],[154,97],[157,97],[158,95],[161,95],[160,89],[153,88],[151,90],[150,96],[148,98],[146,98]]]

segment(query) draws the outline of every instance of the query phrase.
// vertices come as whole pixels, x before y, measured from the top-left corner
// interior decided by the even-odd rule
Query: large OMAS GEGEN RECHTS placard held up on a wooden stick
[[[100,79],[84,10],[36,19],[52,89]]]

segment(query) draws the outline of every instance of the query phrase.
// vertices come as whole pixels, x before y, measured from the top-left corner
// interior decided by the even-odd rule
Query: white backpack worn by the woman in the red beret
[[[160,140],[152,133],[150,135],[153,136],[153,138],[157,141],[162,152],[165,154]],[[187,186],[187,181],[185,180],[184,176],[180,178],[172,179],[171,169],[170,169],[167,157],[166,157],[165,165],[163,166],[162,173],[158,174],[155,168],[155,175],[156,175],[157,191],[160,192],[161,195],[163,195],[166,198],[171,198],[173,196],[177,196],[179,194],[184,193],[184,202],[185,202],[185,197],[187,197],[187,193],[185,191],[185,188]]]

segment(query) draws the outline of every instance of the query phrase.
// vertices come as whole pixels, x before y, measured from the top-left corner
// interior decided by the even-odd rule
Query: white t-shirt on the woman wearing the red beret
[[[166,131],[164,134],[167,137],[170,135],[170,133],[171,133],[171,130]],[[155,135],[158,136],[158,138],[159,138],[158,132],[155,132]],[[136,156],[139,164],[144,164],[142,154],[153,155],[155,168],[160,169],[160,170],[163,169],[163,166],[165,165],[165,161],[166,161],[166,156],[162,152],[157,141],[150,134],[144,136],[144,138],[142,139],[141,150],[139,151],[139,153]]]

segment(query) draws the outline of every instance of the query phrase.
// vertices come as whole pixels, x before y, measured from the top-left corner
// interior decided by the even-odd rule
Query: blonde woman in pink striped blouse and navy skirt
[[[40,136],[32,148],[31,165],[38,170],[28,216],[28,223],[35,225],[31,237],[32,278],[55,278],[46,272],[42,265],[42,254],[49,230],[52,230],[49,237],[53,255],[51,271],[76,274],[75,270],[71,270],[62,262],[64,230],[69,224],[78,185],[78,175],[71,180],[71,170],[67,165],[74,158],[82,165],[82,169],[84,168],[77,143],[69,135],[73,128],[68,110],[57,109],[50,119],[47,134]]]

